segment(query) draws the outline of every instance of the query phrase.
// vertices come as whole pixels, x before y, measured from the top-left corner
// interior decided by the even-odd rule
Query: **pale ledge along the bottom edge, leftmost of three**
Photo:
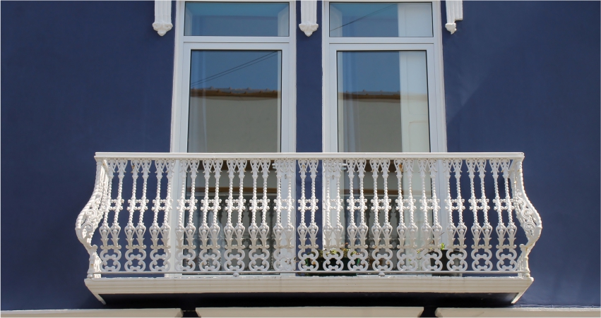
[[[182,317],[179,308],[93,310],[3,310],[1,317]]]

